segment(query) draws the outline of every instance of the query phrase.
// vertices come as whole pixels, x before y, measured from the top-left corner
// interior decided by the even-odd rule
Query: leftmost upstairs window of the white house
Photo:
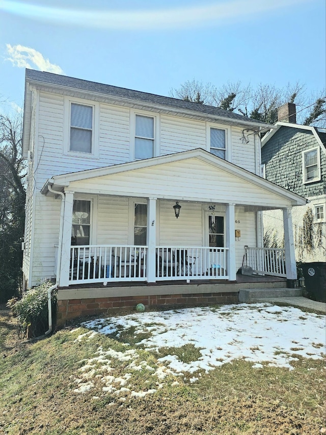
[[[92,153],[93,107],[71,104],[70,151]]]

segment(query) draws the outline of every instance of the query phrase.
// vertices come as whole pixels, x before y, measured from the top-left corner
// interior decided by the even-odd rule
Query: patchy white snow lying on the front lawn
[[[171,386],[179,385],[175,380],[178,376],[187,375],[189,382],[196,382],[200,370],[207,373],[236,359],[252,363],[254,369],[293,370],[290,363],[299,356],[321,359],[326,354],[325,316],[313,313],[303,316],[299,309],[268,303],[145,312],[96,319],[83,326],[90,330],[79,335],[76,342],[91,340],[98,334],[118,338],[124,329],[133,327],[133,338],[144,332],[148,335],[143,340],[140,338],[137,345],[154,354],[164,347],[179,348],[186,344],[199,350],[196,361],[185,363],[177,355],[169,354],[149,363],[141,350],[103,350],[100,346],[94,357],[82,361],[83,367],[74,378],[78,384],[74,392],[89,391],[98,379],[102,391],[120,401],[128,395],[140,398],[155,393],[165,385],[167,377]],[[140,385],[142,371],[147,380]],[[199,372],[197,376],[196,372]],[[144,389],[144,383],[151,385]]]

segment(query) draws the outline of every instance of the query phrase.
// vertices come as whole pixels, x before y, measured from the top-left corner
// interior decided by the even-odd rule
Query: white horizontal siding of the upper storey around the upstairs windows
[[[83,104],[91,105],[93,101],[77,99]],[[39,100],[39,130],[36,143],[39,156],[37,189],[40,189],[49,175],[58,175],[74,171],[93,169],[100,166],[126,163],[134,160],[133,141],[134,125],[132,117],[135,113],[147,116],[150,112],[135,112],[127,107],[99,104],[99,144],[98,158],[87,153],[64,153],[64,97],[62,95],[40,92]],[[94,115],[95,116],[95,115]],[[96,116],[95,116],[96,117]],[[194,148],[207,149],[206,122],[178,116],[158,115],[155,121],[155,152],[154,155],[168,155]],[[220,128],[219,124],[209,124]],[[158,128],[159,127],[159,128]],[[69,125],[67,125],[69,131]],[[227,127],[226,127],[227,128]],[[244,169],[255,172],[254,135],[249,136],[243,153],[241,140],[242,129],[229,128],[232,163]],[[228,133],[229,133],[228,131]],[[81,156],[86,156],[85,158]]]

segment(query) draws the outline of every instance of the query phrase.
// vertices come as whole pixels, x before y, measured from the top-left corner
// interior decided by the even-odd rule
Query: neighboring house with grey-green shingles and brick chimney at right
[[[326,259],[326,130],[295,123],[295,105],[282,106],[276,129],[262,139],[261,161],[266,180],[308,199],[293,210],[297,261]],[[289,122],[290,121],[290,122]],[[263,214],[265,239],[282,246],[283,225],[279,211]]]

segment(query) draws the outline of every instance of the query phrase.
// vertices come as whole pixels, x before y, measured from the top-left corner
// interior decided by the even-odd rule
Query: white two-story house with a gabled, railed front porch
[[[25,287],[56,278],[60,316],[203,293],[171,285],[178,280],[211,280],[198,302],[230,301],[237,293],[225,283],[236,282],[244,246],[263,255],[261,212],[270,209],[283,210],[286,244],[285,264],[280,250],[269,272],[293,284],[291,209],[305,199],[260,177],[260,133],[272,127],[27,69]]]

